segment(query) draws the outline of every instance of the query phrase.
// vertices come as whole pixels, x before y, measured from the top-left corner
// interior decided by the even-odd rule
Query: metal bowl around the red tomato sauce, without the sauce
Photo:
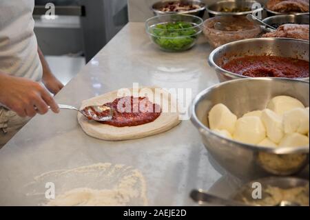
[[[212,51],[209,55],[209,65],[215,68],[220,81],[249,78],[224,70],[221,66],[237,57],[260,55],[291,57],[309,61],[309,41],[287,38],[257,38],[235,41]],[[298,79],[309,81],[309,77]]]

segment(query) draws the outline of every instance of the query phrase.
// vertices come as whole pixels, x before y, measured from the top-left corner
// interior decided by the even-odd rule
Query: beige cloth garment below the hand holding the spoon
[[[0,149],[30,120],[0,107]]]

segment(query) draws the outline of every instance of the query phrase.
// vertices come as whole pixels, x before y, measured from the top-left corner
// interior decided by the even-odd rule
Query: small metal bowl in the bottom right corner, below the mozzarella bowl
[[[253,192],[258,186],[261,186],[262,198],[254,199]],[[282,198],[271,198],[269,192],[271,188],[276,190],[275,194],[279,192],[277,189],[291,190],[293,188],[304,188],[304,190],[301,190],[302,192],[298,190],[299,198],[289,195],[289,199],[287,199],[289,201],[286,202],[295,203],[296,206],[309,206],[309,181],[307,179],[299,179],[295,177],[267,177],[257,179],[242,186],[237,192],[232,194],[230,198],[234,201],[240,201],[243,203],[246,200],[248,203],[256,206],[280,206]],[[301,196],[303,199],[300,198]]]

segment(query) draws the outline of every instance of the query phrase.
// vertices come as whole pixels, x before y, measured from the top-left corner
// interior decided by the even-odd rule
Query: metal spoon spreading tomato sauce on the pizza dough
[[[68,110],[76,110],[83,114],[83,116],[87,117],[89,120],[94,121],[110,121],[113,117],[113,110],[110,107],[107,106],[88,106],[84,108],[83,110],[79,110],[78,108],[75,108],[74,106],[68,106],[68,105],[58,105],[60,109],[68,109]],[[105,117],[100,117],[98,113],[102,113],[109,110],[109,114]]]

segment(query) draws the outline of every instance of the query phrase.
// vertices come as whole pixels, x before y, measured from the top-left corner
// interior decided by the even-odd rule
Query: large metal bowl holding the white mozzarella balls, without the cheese
[[[271,148],[253,146],[221,137],[209,129],[208,112],[223,103],[237,117],[263,110],[273,97],[287,95],[309,106],[309,83],[279,78],[248,78],[220,83],[200,92],[192,103],[192,123],[200,132],[205,148],[217,163],[242,179],[270,174],[291,175],[309,164],[309,146]]]

